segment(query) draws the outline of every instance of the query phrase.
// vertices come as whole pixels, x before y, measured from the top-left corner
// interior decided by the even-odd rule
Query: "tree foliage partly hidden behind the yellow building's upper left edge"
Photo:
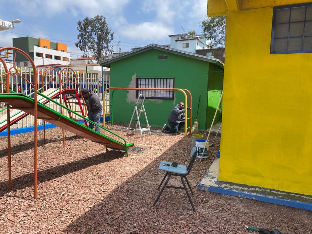
[[[225,46],[225,16],[209,17],[201,21],[200,26],[206,39],[210,40],[210,48]]]

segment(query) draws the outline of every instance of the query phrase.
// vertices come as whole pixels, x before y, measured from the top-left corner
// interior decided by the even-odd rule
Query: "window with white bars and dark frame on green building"
[[[136,88],[173,89],[174,78],[137,78]],[[145,98],[173,99],[173,91],[170,90],[136,90],[136,97],[145,94]]]

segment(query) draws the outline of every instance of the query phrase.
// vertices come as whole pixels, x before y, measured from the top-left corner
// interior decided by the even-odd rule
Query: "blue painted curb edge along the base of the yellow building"
[[[205,190],[205,191],[209,191],[213,193],[221,193],[221,194],[227,194],[227,195],[232,195],[236,197],[244,197],[244,198],[249,198],[249,199],[258,200],[262,202],[269,202],[273,204],[295,207],[299,209],[312,211],[312,203],[309,203],[309,202],[301,202],[301,201],[290,200],[290,199],[285,199],[285,198],[280,198],[280,197],[260,195],[260,194],[250,193],[250,192],[241,191],[241,190],[232,190],[228,188],[204,186],[200,184],[198,185],[198,188],[201,190]]]

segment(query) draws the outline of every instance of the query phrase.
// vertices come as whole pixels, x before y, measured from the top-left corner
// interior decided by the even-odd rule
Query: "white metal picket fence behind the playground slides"
[[[34,92],[34,89],[32,88],[33,82],[34,82],[34,77],[33,77],[33,71],[32,68],[30,67],[20,67],[17,68],[18,74],[19,75],[10,75],[9,77],[9,85],[10,85],[10,89],[15,91],[15,92],[19,92],[19,93],[23,93],[25,95],[30,95],[31,97],[33,97],[33,95],[31,95]],[[39,89],[42,87],[42,74],[44,73],[43,69],[38,69],[37,70],[37,82],[38,82],[38,86]],[[2,64],[0,63],[0,76],[1,76],[1,82],[2,83],[6,83],[6,75],[5,71],[2,67]],[[23,78],[25,79],[23,79]],[[75,75],[73,71],[63,71],[61,74],[62,80],[66,80],[64,82],[64,88],[70,88],[70,89],[78,89],[78,86],[76,85],[76,83],[72,82],[75,80]],[[78,79],[78,83],[80,88],[88,88],[89,90],[92,90],[95,94],[97,94],[99,96],[99,99],[101,100],[101,103],[103,105],[103,108],[105,109],[106,113],[110,113],[110,108],[109,106],[105,105],[109,105],[109,93],[105,94],[105,100],[106,103],[103,103],[103,92],[106,89],[106,87],[109,87],[109,76],[105,76],[105,77],[100,77],[98,76],[97,73],[85,73],[85,72],[79,72],[76,73],[76,77]],[[29,84],[28,82],[30,82],[31,84]],[[59,87],[59,76],[58,76],[58,72],[54,71],[54,70],[49,70],[44,74],[43,77],[43,84],[47,84],[44,89],[46,90],[47,88],[58,88]],[[6,87],[3,84],[0,84],[0,91],[6,92]],[[40,96],[38,96],[39,99]],[[56,100],[58,103],[60,102],[60,98],[56,98],[54,99]],[[71,101],[75,102],[77,100],[72,99]],[[64,100],[62,101],[62,104],[64,104]],[[79,105],[75,105],[73,103],[70,103],[71,105],[71,109],[75,112],[80,111],[80,107]],[[48,102],[46,104],[46,106],[50,107],[53,110],[56,110],[58,112],[60,112],[60,106],[53,103],[53,102]],[[5,108],[6,105],[4,103],[0,103],[0,110],[3,110],[3,108]],[[63,109],[63,114],[66,115],[67,117],[69,117],[68,112]],[[81,114],[81,113],[79,113]],[[86,113],[85,113],[86,114]],[[2,115],[7,115],[6,110],[3,110],[0,112],[0,117]],[[79,116],[76,116],[74,114],[71,114],[72,118],[75,119],[81,119]],[[43,124],[43,120],[38,119],[38,125]],[[17,123],[12,124],[11,125],[11,129],[17,129],[17,128],[24,128],[24,127],[30,127],[34,125],[34,117],[31,115],[28,115],[27,117],[19,120]]]

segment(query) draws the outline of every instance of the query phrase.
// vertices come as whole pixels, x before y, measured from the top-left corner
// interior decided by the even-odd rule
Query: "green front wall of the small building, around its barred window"
[[[159,55],[168,55],[168,59],[159,60]],[[206,129],[205,124],[207,121],[207,76],[209,68],[213,68],[215,66],[209,66],[209,64],[210,63],[207,61],[201,61],[182,55],[152,49],[130,56],[129,58],[123,58],[122,60],[112,62],[110,64],[110,87],[134,88],[136,82],[135,77],[173,77],[174,88],[185,88],[192,93],[192,124],[196,118],[198,99],[199,95],[201,95],[197,121],[199,123],[199,129],[204,130]],[[129,123],[134,110],[135,101],[136,98],[134,90],[116,90],[113,100],[114,122]],[[149,124],[159,127],[163,126],[165,123],[168,124],[168,116],[173,106],[178,104],[180,101],[184,102],[184,95],[179,91],[174,92],[173,100],[146,99],[144,107]],[[213,103],[211,102],[209,105],[213,106]],[[145,120],[143,120],[142,117],[140,120],[142,120],[141,123],[144,125]]]

